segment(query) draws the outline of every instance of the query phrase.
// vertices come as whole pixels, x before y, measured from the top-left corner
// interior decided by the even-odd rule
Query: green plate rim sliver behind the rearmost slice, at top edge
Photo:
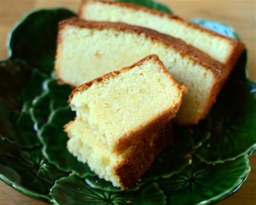
[[[144,6],[149,9],[169,13],[172,15],[172,11],[164,4],[156,2],[154,0],[114,0],[116,2],[131,3],[139,6]]]

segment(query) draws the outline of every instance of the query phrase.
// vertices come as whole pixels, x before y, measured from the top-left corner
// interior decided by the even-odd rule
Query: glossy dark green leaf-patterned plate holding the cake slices
[[[119,0],[121,1],[121,0]],[[122,0],[172,13],[151,0]],[[58,22],[67,9],[25,15],[0,61],[0,179],[27,196],[52,204],[207,204],[237,191],[250,173],[256,148],[256,84],[247,76],[247,51],[197,126],[174,126],[174,143],[127,192],[99,179],[66,149],[63,125],[75,116],[70,87],[52,74]],[[232,38],[229,26],[192,23]]]

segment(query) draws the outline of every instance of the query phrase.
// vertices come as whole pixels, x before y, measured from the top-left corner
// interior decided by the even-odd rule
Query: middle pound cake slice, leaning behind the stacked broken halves
[[[230,69],[180,39],[124,23],[64,20],[59,24],[55,73],[63,83],[79,86],[150,54],[157,54],[174,80],[187,87],[176,122],[197,124]]]

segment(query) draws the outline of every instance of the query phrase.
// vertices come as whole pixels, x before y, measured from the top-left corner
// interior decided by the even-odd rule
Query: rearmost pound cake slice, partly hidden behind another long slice
[[[244,45],[238,40],[200,28],[177,16],[133,4],[84,0],[79,17],[85,20],[123,22],[143,26],[180,38],[228,67],[235,65],[244,50]]]

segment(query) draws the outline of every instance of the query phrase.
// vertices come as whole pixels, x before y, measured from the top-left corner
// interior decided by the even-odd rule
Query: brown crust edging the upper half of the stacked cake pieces
[[[170,119],[173,118],[179,110],[179,107],[181,104],[181,98],[182,98],[183,92],[186,92],[186,87],[179,86],[176,83],[176,81],[173,80],[173,78],[169,74],[169,72],[165,69],[163,63],[159,60],[158,56],[156,56],[155,54],[152,54],[152,55],[147,56],[144,59],[140,60],[138,63],[133,64],[132,66],[125,67],[124,69],[122,69],[120,71],[114,71],[114,72],[107,73],[102,77],[96,78],[95,80],[89,81],[88,83],[85,83],[85,84],[77,87],[75,90],[72,91],[72,93],[69,96],[69,104],[71,104],[71,100],[75,94],[87,90],[93,84],[100,83],[101,81],[104,81],[106,79],[115,78],[116,76],[118,76],[118,74],[127,72],[127,71],[133,69],[134,67],[143,64],[144,61],[147,61],[147,60],[153,60],[160,65],[160,68],[164,71],[166,76],[169,77],[170,81],[172,81],[172,84],[174,84],[174,86],[176,86],[176,88],[179,90],[179,97],[178,97],[179,101],[177,102],[177,104],[174,107],[171,107],[169,110],[161,113],[160,115],[158,115],[157,118],[151,119],[151,121],[148,122],[146,125],[138,128],[134,132],[127,133],[126,135],[122,136],[114,145],[114,148],[113,148],[114,153],[117,153],[117,154],[123,153],[130,146],[133,146],[133,145],[137,144],[138,141],[146,138],[146,136],[149,135],[149,133],[158,129],[159,126],[163,126],[164,124],[166,124],[166,122],[170,121]]]

